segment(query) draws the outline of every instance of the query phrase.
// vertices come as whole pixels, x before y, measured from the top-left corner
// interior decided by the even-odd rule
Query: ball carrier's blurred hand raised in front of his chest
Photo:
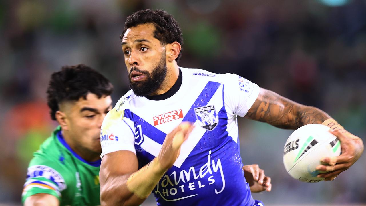
[[[179,156],[180,146],[188,138],[194,126],[188,122],[182,122],[173,129],[163,142],[163,146],[158,155],[160,165],[164,169],[169,169]]]

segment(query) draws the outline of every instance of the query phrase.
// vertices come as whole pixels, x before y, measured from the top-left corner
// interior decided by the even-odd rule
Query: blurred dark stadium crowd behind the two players
[[[56,126],[52,72],[85,63],[111,80],[114,102],[128,91],[119,35],[143,8],[179,22],[180,66],[237,73],[366,141],[366,0],[0,0],[0,205],[20,205],[31,154]],[[244,164],[272,177],[272,192],[253,194],[267,206],[366,203],[365,155],[332,182],[301,183],[282,162],[291,130],[246,119],[239,130]]]

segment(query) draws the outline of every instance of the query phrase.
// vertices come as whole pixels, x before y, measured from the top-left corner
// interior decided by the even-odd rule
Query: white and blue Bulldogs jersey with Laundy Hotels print
[[[236,74],[179,69],[171,95],[141,97],[131,90],[117,102],[102,125],[101,157],[132,151],[141,168],[158,155],[173,128],[189,121],[194,130],[153,190],[157,204],[253,206],[242,169],[237,115],[246,115],[258,97],[258,85]]]

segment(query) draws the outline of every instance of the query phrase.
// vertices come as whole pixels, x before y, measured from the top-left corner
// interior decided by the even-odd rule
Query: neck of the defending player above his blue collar
[[[72,140],[72,138],[67,132],[63,132],[62,135],[68,146],[70,146],[70,148],[72,149],[72,151],[78,154],[85,161],[95,162],[98,159],[100,159],[99,153],[87,150],[85,147],[78,145],[75,141]]]

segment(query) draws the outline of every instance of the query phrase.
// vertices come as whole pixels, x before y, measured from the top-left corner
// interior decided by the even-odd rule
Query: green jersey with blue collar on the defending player
[[[87,162],[72,151],[58,126],[34,152],[23,187],[22,202],[31,195],[47,193],[59,198],[61,206],[100,205],[100,162]]]

